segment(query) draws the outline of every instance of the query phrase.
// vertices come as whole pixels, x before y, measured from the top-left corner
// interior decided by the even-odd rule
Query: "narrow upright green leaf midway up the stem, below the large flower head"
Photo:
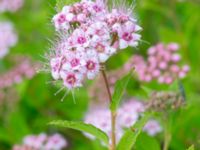
[[[128,75],[123,77],[122,79],[118,80],[115,84],[115,91],[112,96],[112,102],[110,104],[110,110],[115,112],[118,108],[118,105],[120,103],[120,100],[124,94],[124,91],[128,85],[128,82],[132,76],[133,70],[129,72]]]

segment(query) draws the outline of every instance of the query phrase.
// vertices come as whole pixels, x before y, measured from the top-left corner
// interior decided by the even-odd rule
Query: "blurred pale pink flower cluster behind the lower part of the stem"
[[[128,128],[136,123],[142,112],[145,111],[145,105],[135,99],[125,102],[118,110],[116,117],[116,139],[120,140],[124,133],[124,128]],[[85,122],[100,128],[111,137],[110,111],[105,107],[92,107],[85,116]],[[155,120],[150,120],[144,127],[150,136],[161,132],[160,124]],[[90,134],[84,133],[88,138],[94,139]]]

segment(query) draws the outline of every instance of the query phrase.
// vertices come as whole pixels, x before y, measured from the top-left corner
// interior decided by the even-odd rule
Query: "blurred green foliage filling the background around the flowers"
[[[73,2],[72,0],[70,2]],[[1,20],[13,22],[19,35],[18,44],[11,53],[0,60],[0,72],[9,69],[7,58],[16,54],[28,55],[34,61],[44,61],[42,56],[54,39],[51,18],[55,14],[55,0],[26,0],[23,8],[16,13],[0,14]],[[191,71],[183,85],[187,95],[187,106],[174,113],[171,118],[172,141],[170,150],[184,150],[194,144],[200,149],[200,1],[199,0],[135,0],[135,15],[143,27],[142,39],[137,49],[127,49],[108,62],[108,69],[120,68],[134,53],[146,55],[147,49],[158,42],[178,42],[183,60],[191,66]],[[117,61],[116,61],[117,60]],[[71,95],[63,102],[64,92],[55,96],[59,86],[47,84],[50,74],[39,73],[32,80],[25,80],[14,88],[18,101],[0,114],[0,149],[8,150],[27,134],[40,132],[60,132],[69,141],[68,149],[100,150],[99,142],[91,142],[80,132],[53,128],[47,125],[55,119],[81,120],[87,111],[90,99],[87,87],[76,92],[76,104]],[[156,83],[145,84],[152,89],[164,89]],[[132,81],[128,93],[141,96],[141,85]],[[6,93],[10,94],[10,93]],[[12,103],[8,99],[6,103]],[[137,150],[159,150],[163,140],[141,134],[136,143]]]

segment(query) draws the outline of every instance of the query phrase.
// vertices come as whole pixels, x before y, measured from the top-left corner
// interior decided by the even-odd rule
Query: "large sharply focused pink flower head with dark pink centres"
[[[114,8],[102,0],[82,0],[53,17],[62,35],[50,58],[51,73],[69,90],[81,87],[85,78],[94,79],[100,66],[119,49],[138,45],[141,28],[130,12]]]

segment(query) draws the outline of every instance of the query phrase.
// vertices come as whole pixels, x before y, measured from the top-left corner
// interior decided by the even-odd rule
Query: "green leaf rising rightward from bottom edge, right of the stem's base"
[[[124,133],[117,145],[117,150],[131,150],[149,117],[150,114],[145,114],[135,125]]]

